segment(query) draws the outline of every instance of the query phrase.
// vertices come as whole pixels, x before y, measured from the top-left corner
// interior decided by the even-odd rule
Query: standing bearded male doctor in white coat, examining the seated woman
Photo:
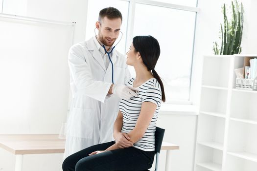
[[[120,98],[129,99],[137,94],[124,84],[130,79],[125,57],[116,49],[110,54],[120,33],[121,13],[113,7],[99,12],[95,23],[98,35],[70,48],[70,87],[72,102],[67,120],[67,138],[64,157],[113,140],[113,125]],[[117,42],[117,41],[116,41]]]

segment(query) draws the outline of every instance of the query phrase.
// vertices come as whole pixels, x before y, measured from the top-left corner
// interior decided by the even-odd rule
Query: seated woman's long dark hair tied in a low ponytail
[[[154,78],[161,85],[162,101],[165,102],[164,84],[154,69],[161,52],[158,41],[152,36],[136,36],[133,38],[133,46],[135,47],[135,51],[140,53],[148,71],[152,70]]]

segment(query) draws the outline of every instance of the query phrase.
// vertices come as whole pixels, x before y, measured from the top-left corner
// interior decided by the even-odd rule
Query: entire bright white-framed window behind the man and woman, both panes
[[[111,0],[101,4],[89,0],[86,40],[94,35],[99,11],[107,6],[116,7],[123,16],[123,37],[117,50],[125,55],[134,36],[155,37],[161,46],[156,71],[164,80],[166,101],[188,104],[196,5],[197,0]],[[135,76],[134,68],[129,68]]]

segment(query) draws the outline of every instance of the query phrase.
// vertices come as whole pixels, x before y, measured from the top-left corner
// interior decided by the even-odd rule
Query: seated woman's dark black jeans
[[[113,144],[114,141],[94,145],[70,155],[63,162],[63,171],[145,171],[152,167],[154,151],[134,147],[88,155]]]

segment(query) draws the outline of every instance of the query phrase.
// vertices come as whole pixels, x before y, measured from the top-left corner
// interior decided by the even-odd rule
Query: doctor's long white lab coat
[[[114,83],[124,85],[130,79],[125,57],[116,49],[112,53]],[[64,158],[113,140],[120,100],[116,95],[106,97],[112,83],[112,66],[109,63],[106,69],[93,38],[70,48],[69,67],[72,102]]]

